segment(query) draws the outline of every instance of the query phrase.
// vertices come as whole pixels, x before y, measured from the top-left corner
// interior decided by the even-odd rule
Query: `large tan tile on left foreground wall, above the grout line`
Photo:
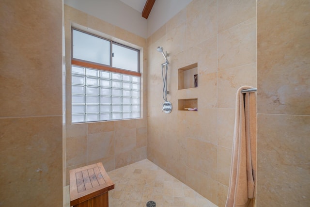
[[[36,2],[5,5],[0,35],[0,97],[5,101],[0,102],[0,116],[62,115],[62,4],[50,5],[54,12]]]

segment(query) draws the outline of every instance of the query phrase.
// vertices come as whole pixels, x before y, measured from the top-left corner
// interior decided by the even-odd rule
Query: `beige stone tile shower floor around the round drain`
[[[109,207],[146,207],[148,201],[155,201],[156,207],[217,207],[148,159],[108,174],[115,184]],[[64,196],[64,207],[69,207],[69,186]]]

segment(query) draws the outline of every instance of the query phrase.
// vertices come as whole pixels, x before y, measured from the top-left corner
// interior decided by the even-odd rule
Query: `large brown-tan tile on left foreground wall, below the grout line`
[[[0,119],[0,128],[1,205],[61,206],[62,117]]]

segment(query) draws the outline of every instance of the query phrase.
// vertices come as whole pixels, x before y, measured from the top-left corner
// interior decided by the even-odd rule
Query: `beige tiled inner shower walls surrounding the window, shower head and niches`
[[[141,80],[142,87],[147,88],[141,90],[142,120],[67,124],[67,172],[97,161],[111,171],[147,158],[223,206],[229,181],[235,91],[241,85],[256,87],[256,2],[239,3],[193,0],[147,40],[65,5],[66,32],[75,22],[145,48]],[[170,53],[167,98],[174,106],[170,114],[161,112],[163,60],[156,51],[158,46]],[[70,48],[66,46],[67,62]],[[198,87],[179,90],[179,69],[193,64]],[[69,77],[66,82],[71,82]],[[198,111],[178,110],[180,100],[195,100]],[[70,103],[67,93],[67,106]],[[70,107],[66,117],[71,123]],[[78,152],[77,147],[81,149]]]

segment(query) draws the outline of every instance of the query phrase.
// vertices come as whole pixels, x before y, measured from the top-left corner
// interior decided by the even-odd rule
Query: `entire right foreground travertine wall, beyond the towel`
[[[258,0],[257,206],[310,206],[310,1]]]

